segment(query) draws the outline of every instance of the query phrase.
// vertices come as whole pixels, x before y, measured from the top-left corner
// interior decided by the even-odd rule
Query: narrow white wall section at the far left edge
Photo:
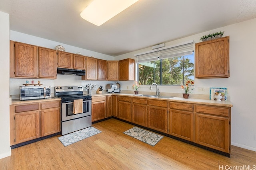
[[[0,159],[11,155],[10,150],[10,107],[9,107],[9,14],[0,11]]]

